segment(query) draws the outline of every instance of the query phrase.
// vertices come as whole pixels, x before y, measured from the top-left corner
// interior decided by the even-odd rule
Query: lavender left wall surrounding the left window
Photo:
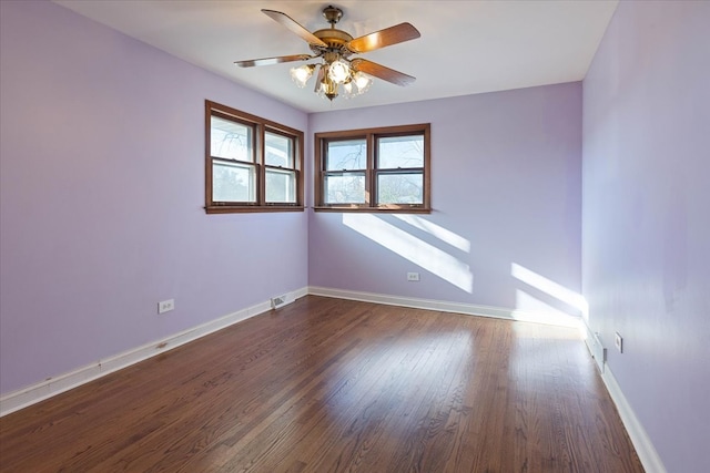
[[[0,392],[307,285],[305,213],[202,209],[205,99],[304,113],[53,3],[0,4]]]

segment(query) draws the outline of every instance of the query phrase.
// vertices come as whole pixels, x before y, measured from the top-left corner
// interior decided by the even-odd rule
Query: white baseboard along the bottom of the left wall
[[[286,299],[285,304],[290,304],[306,294],[307,289],[302,288],[292,292],[286,292],[283,296],[285,296]],[[165,339],[101,359],[95,363],[78,368],[68,373],[59,374],[42,382],[10,392],[0,398],[0,417],[27,408],[28,405],[43,401],[64,391],[69,391],[70,389],[77,388],[120,369],[128,368],[131,364],[135,364],[148,358],[172,350],[181,345],[196,340],[242,320],[266,312],[271,310],[271,300],[264,301],[206,323],[202,323],[197,327],[193,327],[180,333],[172,335]]]

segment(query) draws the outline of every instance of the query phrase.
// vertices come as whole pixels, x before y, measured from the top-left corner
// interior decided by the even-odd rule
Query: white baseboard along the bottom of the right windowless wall
[[[636,453],[639,455],[639,460],[641,461],[643,469],[647,473],[666,473],[666,466],[663,466],[663,462],[658,455],[651,439],[648,436],[643,425],[636,417],[633,409],[631,409],[631,405],[623,395],[617,379],[613,377],[613,373],[608,366],[605,367],[605,370],[601,373],[601,379],[611,395],[611,400],[617,405],[617,411],[619,411],[621,422],[623,423],[626,431],[629,433],[631,443],[636,449]]]

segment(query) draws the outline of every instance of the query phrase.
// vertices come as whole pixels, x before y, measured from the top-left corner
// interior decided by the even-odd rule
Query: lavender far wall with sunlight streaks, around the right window
[[[581,290],[581,84],[310,116],[312,133],[408,123],[432,123],[434,212],[312,213],[310,285],[572,310],[513,265]],[[407,282],[407,271],[422,280]]]

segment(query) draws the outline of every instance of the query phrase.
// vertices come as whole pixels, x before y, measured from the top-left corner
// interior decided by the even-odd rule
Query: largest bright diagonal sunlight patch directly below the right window
[[[369,214],[343,214],[343,224],[466,292],[473,291],[469,266],[434,245]]]

